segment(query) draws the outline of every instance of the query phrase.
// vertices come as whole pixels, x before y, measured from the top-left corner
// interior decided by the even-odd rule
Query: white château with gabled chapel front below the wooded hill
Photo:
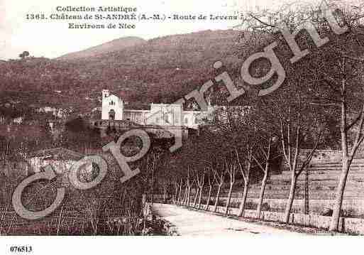
[[[129,120],[140,125],[158,126],[186,126],[197,129],[211,112],[212,107],[206,112],[184,111],[182,104],[150,104],[150,109],[133,110],[125,109],[124,102],[108,89],[102,90],[102,120]]]

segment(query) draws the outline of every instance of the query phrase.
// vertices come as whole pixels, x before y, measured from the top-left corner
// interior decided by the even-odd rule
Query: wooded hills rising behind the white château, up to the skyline
[[[148,41],[128,37],[57,59],[9,60],[0,68],[1,100],[86,113],[101,106],[101,89],[107,88],[135,109],[142,103],[174,102],[221,73],[212,67],[217,60],[238,74],[240,35],[227,30]]]

